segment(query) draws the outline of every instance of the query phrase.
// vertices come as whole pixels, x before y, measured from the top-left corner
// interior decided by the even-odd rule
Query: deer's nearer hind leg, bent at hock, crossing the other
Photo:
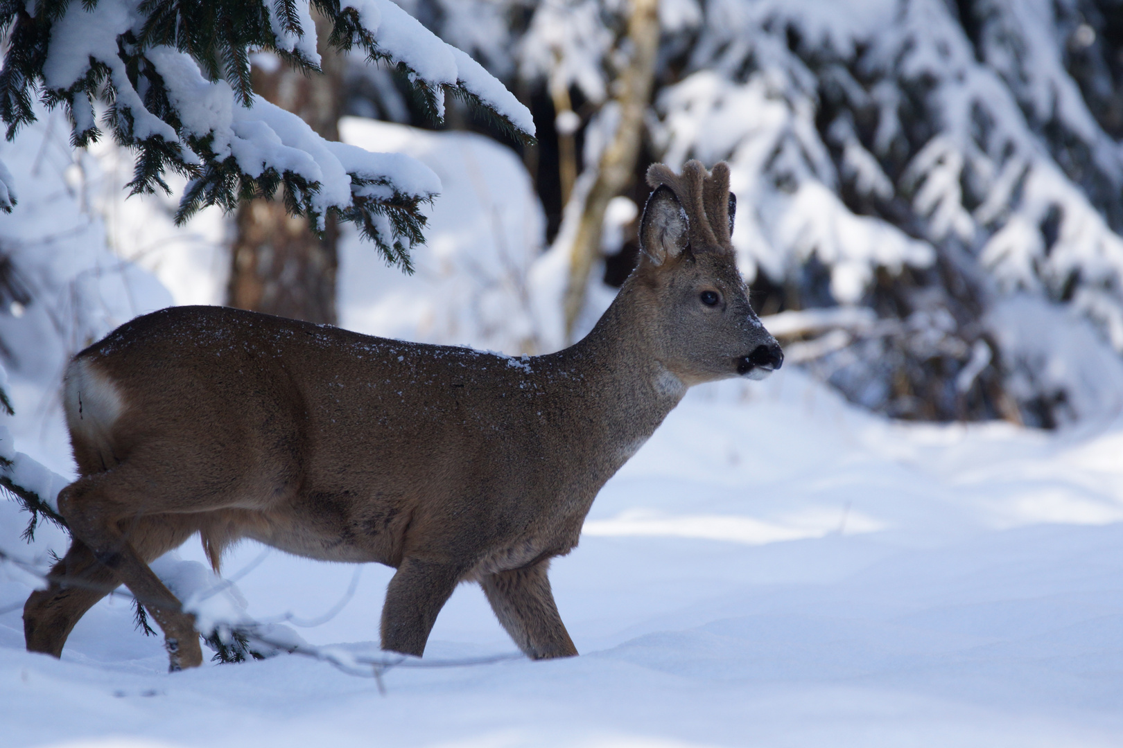
[[[164,587],[130,542],[136,537],[141,546],[149,545],[154,539],[152,536],[159,535],[153,532],[155,523],[167,518],[149,516],[135,521],[129,519],[136,516],[136,509],[115,498],[128,489],[122,472],[119,469],[111,473],[98,473],[71,483],[58,495],[58,511],[70,525],[74,538],[84,544],[117,581],[129,588],[164,631],[170,669],[197,667],[202,664],[202,649],[194,628],[194,616],[183,612],[180,601]],[[145,504],[139,500],[131,506]],[[146,532],[149,536],[147,542],[144,541]]]

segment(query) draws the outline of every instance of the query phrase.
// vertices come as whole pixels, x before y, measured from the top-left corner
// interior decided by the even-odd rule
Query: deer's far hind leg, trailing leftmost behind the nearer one
[[[197,524],[189,515],[165,515],[122,523],[121,530],[140,557],[149,562],[182,545]],[[24,639],[28,652],[60,657],[82,616],[121,582],[76,538],[47,579],[49,587],[33,592],[24,606]]]

